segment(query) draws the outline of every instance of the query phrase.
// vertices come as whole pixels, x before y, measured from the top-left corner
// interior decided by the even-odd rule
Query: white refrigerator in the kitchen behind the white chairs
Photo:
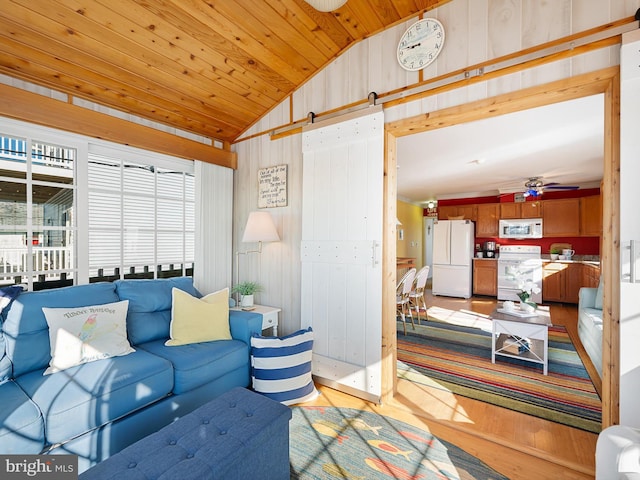
[[[470,298],[474,251],[470,220],[438,220],[433,225],[432,293]]]

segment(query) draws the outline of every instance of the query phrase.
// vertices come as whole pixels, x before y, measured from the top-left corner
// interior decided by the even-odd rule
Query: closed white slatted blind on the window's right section
[[[194,262],[193,174],[177,159],[145,160],[89,153],[90,277],[184,270]]]

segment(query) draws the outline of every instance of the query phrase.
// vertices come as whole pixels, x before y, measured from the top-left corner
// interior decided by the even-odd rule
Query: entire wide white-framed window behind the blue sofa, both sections
[[[16,123],[0,119],[2,285],[193,275],[193,162]]]

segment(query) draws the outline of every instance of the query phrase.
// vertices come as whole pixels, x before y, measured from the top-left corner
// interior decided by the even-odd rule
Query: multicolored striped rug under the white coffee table
[[[430,309],[431,318],[431,309]],[[403,335],[398,377],[598,433],[601,402],[564,327],[549,328],[549,374],[507,357],[491,363],[491,320],[472,312],[422,321]]]

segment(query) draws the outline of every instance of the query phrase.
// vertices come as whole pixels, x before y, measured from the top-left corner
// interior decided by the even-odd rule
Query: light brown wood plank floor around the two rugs
[[[427,305],[488,314],[495,307],[495,299],[427,294]],[[575,306],[551,304],[552,322],[567,328],[594,378],[595,369],[577,337],[577,318]],[[328,387],[318,388],[321,395],[311,405],[358,408],[402,420],[457,445],[511,480],[594,478],[597,435],[593,433],[402,379],[393,400],[380,406]],[[596,388],[600,391],[599,382]]]

